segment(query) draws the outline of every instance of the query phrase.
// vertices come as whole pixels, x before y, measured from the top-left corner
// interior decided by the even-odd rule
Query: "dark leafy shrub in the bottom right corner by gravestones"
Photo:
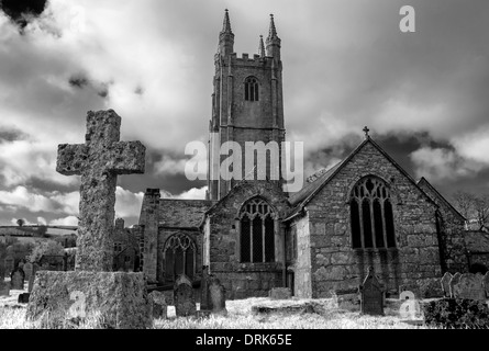
[[[480,301],[442,298],[423,304],[424,322],[448,329],[489,328],[489,307]]]

